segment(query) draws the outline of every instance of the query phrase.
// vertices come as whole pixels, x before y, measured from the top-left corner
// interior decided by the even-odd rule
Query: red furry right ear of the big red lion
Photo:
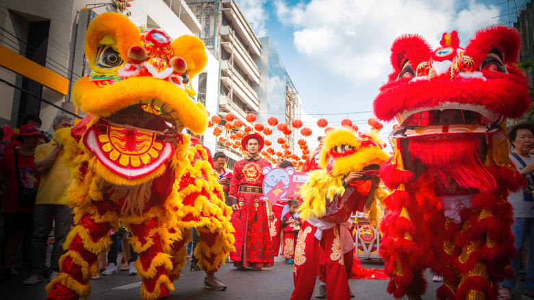
[[[495,53],[504,64],[518,62],[521,38],[516,29],[505,25],[495,25],[476,32],[466,46],[466,55],[474,60],[479,68],[489,53]]]

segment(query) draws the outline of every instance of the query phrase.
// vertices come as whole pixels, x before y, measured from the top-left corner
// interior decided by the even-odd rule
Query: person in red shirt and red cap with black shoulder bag
[[[39,140],[44,138],[35,125],[24,125],[17,136],[21,147],[4,154],[0,163],[0,174],[7,186],[3,198],[4,234],[1,249],[0,264],[3,269],[0,273],[0,281],[11,279],[11,267],[23,234],[31,232],[33,228],[34,205],[21,205],[18,203],[18,188],[37,188],[39,175],[34,164],[35,148]],[[15,166],[15,155],[18,158],[18,169]],[[17,182],[16,172],[20,181]],[[5,246],[4,246],[5,245]]]

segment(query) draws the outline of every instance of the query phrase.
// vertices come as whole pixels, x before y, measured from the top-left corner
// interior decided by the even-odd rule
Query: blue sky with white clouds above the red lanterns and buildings
[[[258,37],[269,36],[307,114],[333,125],[350,118],[364,130],[372,100],[390,73],[390,47],[401,34],[420,34],[432,47],[457,30],[461,45],[481,29],[515,16],[505,0],[236,0]],[[526,0],[516,0],[521,6]],[[509,6],[508,6],[509,5]],[[500,17],[499,17],[500,16]],[[305,122],[313,122],[306,118]],[[385,138],[393,124],[386,125]],[[314,130],[314,135],[322,135]]]

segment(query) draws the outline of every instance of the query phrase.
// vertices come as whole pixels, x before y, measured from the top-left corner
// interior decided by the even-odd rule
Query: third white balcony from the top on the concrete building
[[[256,92],[246,83],[246,81],[232,68],[226,60],[220,62],[221,75],[220,80],[225,86],[231,86],[236,94],[244,103],[249,105],[253,111],[259,110],[259,97]]]

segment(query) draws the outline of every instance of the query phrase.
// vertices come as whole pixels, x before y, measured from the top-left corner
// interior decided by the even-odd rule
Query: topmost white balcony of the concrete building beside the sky
[[[223,8],[223,14],[228,18],[232,23],[233,30],[236,31],[236,34],[246,43],[246,46],[249,47],[252,54],[259,57],[259,49],[261,44],[257,39],[257,36],[254,34],[251,26],[246,22],[241,10],[238,8],[238,5],[233,0],[221,0]]]

